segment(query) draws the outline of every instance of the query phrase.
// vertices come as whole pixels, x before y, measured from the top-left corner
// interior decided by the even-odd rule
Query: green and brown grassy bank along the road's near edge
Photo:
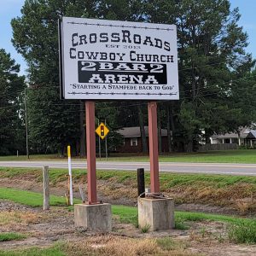
[[[86,171],[73,169],[74,184],[86,182]],[[97,180],[104,181],[99,192],[115,199],[125,195],[137,198],[137,173],[126,171],[97,170]],[[40,168],[0,167],[0,177],[20,178],[42,182]],[[50,169],[49,181],[52,185],[67,182],[67,169]],[[150,183],[149,172],[145,172],[146,187]],[[116,184],[119,184],[117,186]],[[63,185],[63,183],[62,183]],[[163,193],[180,203],[210,204],[218,207],[235,208],[241,215],[256,212],[256,177],[232,175],[208,175],[185,173],[160,173],[160,188]],[[182,193],[181,193],[182,191]]]

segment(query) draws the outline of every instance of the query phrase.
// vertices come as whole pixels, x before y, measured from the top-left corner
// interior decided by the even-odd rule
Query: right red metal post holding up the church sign
[[[151,193],[160,193],[156,102],[148,102],[148,140],[150,158],[150,189]]]

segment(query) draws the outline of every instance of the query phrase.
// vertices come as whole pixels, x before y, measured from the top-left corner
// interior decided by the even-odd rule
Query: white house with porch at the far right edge
[[[224,134],[214,134],[210,137],[211,144],[231,144],[236,143],[239,146],[249,145],[253,147],[256,145],[256,131],[250,128],[241,128],[240,134],[237,132],[229,132]]]

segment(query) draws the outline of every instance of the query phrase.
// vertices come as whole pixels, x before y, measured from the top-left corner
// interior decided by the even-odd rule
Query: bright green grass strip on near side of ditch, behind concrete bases
[[[15,201],[30,207],[42,207],[43,196],[40,193],[18,189],[0,188],[0,199]],[[74,199],[74,203],[80,203]],[[65,198],[51,196],[50,205],[55,207],[65,206]],[[73,210],[73,207],[68,207]],[[112,206],[113,215],[119,217],[122,223],[137,225],[137,208],[125,206]],[[189,222],[219,221],[229,224],[230,241],[256,243],[256,220],[253,218],[236,218],[226,215],[208,214],[201,212],[175,212],[176,229],[188,229]]]

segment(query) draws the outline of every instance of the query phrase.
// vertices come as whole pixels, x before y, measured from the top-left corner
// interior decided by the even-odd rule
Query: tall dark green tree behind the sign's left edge
[[[76,148],[79,142],[79,102],[59,99],[57,28],[62,15],[89,15],[93,4],[82,0],[26,0],[22,16],[11,22],[13,44],[29,67],[29,138],[35,151],[58,149],[63,154],[67,144]]]

